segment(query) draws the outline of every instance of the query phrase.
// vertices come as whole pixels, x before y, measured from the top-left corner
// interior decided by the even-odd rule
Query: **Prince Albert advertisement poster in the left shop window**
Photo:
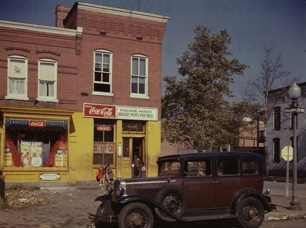
[[[20,153],[23,167],[42,166],[42,142],[21,140]]]

